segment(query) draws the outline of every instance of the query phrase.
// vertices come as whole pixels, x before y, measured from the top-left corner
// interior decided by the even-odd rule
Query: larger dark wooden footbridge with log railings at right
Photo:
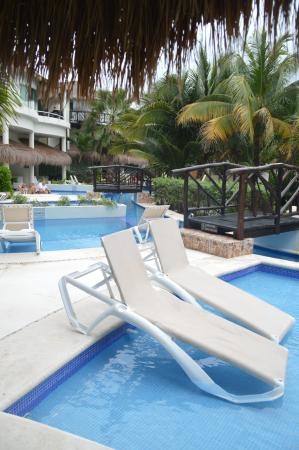
[[[173,174],[184,178],[185,227],[198,222],[202,230],[233,231],[243,239],[265,234],[266,229],[269,234],[279,233],[282,227],[299,223],[299,217],[291,220],[299,213],[299,167],[223,162],[177,169]]]

